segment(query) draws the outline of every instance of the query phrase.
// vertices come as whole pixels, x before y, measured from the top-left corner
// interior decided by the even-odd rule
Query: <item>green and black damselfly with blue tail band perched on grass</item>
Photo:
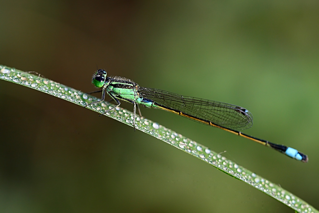
[[[138,104],[141,104],[144,107],[170,111],[203,124],[218,127],[273,148],[296,160],[308,162],[308,156],[296,149],[271,143],[238,131],[247,129],[253,125],[252,114],[245,108],[228,103],[178,95],[160,89],[140,87],[132,80],[118,76],[106,77],[106,75],[106,71],[101,69],[97,70],[93,75],[92,83],[94,86],[98,88],[102,87],[102,90],[95,92],[102,92],[102,97],[100,101],[89,103],[85,107],[104,101],[105,94],[107,93],[115,101],[116,105],[106,110],[103,114],[120,106],[120,100],[130,102],[134,104],[134,128],[136,107],[141,115],[138,108]]]

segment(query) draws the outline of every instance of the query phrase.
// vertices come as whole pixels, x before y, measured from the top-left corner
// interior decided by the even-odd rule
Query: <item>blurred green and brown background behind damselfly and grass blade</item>
[[[301,163],[172,113],[157,121],[319,208],[318,1],[0,1],[0,64],[84,92],[98,68],[250,110],[244,132]],[[97,95],[99,96],[99,95]],[[292,212],[120,122],[0,81],[1,212]],[[130,104],[122,107],[133,109]]]

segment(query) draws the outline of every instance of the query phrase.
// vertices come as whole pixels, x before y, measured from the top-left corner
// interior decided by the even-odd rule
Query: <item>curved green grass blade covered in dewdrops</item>
[[[3,65],[0,65],[0,79],[39,90],[82,107],[87,103],[97,100],[97,98],[94,96],[46,79],[38,74],[23,72]],[[114,105],[108,102],[103,102],[94,106],[89,106],[88,108],[102,114],[105,112],[105,110],[112,106]],[[115,110],[112,110],[105,115],[126,125],[133,126],[133,113],[129,110],[117,107]],[[284,203],[297,212],[318,212],[317,209],[301,200],[294,194],[286,191],[282,187],[260,177],[259,175],[256,175],[255,173],[245,169],[231,160],[226,159],[226,157],[221,156],[204,145],[192,141],[181,134],[174,132],[173,130],[167,129],[156,122],[150,121],[144,117],[140,118],[138,116],[136,119],[136,125],[136,129],[152,135],[153,137],[156,137],[175,148],[181,149],[182,151],[197,157],[208,164],[211,164],[227,175],[244,181],[245,183],[253,186],[265,194],[268,194],[269,196]]]

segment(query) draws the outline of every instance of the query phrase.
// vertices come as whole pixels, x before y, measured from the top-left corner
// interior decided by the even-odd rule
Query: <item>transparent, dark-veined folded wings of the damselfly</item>
[[[166,108],[210,121],[229,129],[248,129],[253,125],[252,114],[239,106],[201,98],[178,95],[160,89],[139,87],[139,95]]]

